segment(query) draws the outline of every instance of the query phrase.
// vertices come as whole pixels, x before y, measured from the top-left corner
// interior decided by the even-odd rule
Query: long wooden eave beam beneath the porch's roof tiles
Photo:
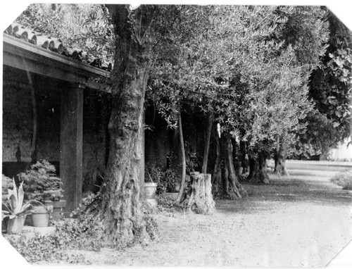
[[[110,76],[106,70],[81,63],[7,34],[4,34],[3,48],[4,65],[110,92],[106,84],[96,81]]]

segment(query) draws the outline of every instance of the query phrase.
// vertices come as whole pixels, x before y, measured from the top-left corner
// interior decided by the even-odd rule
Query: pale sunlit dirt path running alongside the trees
[[[325,266],[352,238],[352,192],[329,182],[336,171],[289,172],[211,216],[156,215],[158,243],[74,253],[94,265]]]

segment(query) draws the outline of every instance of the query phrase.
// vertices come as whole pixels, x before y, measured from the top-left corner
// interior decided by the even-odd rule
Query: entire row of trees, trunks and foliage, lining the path
[[[40,13],[43,8],[49,11]],[[113,55],[107,51],[115,49],[110,155],[101,205],[94,213],[94,218],[103,220],[108,242],[125,245],[150,239],[153,230],[139,200],[145,98],[156,105],[168,127],[179,128],[183,169],[177,201],[182,199],[186,176],[182,111],[198,111],[208,119],[202,170],[207,171],[213,141],[213,183],[231,199],[246,196],[234,171],[233,146],[239,141],[249,155],[247,180],[266,183],[266,158],[275,151],[276,170],[284,173],[287,146],[296,137],[306,143],[303,137],[310,118],[322,115],[334,127],[339,123],[340,137],[346,136],[349,97],[348,89],[340,87],[351,79],[351,37],[342,40],[346,32],[329,35],[336,30],[334,17],[325,8],[36,5],[22,15],[21,22],[32,18],[27,21],[35,25],[37,13],[43,19],[54,13],[70,24],[64,15],[69,9],[82,12],[77,18],[88,29],[90,41],[80,39],[84,31],[77,29],[77,38],[70,38],[58,27],[54,31],[58,37],[73,44],[81,40],[77,44],[82,49],[89,45],[88,51],[103,57]],[[43,27],[38,24],[37,30]],[[325,79],[326,73],[334,80],[327,78],[321,92],[319,76]],[[331,105],[336,113],[331,113]],[[312,137],[308,134],[310,144]]]

